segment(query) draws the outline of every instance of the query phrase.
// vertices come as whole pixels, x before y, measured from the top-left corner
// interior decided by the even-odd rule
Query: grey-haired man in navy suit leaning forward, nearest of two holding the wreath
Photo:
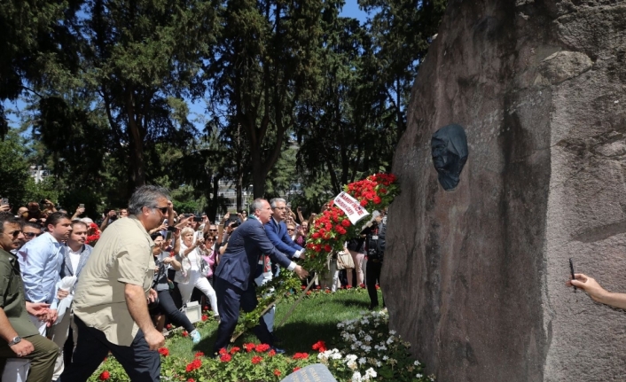
[[[217,327],[217,339],[213,347],[215,353],[228,345],[237,326],[239,308],[244,312],[256,308],[254,273],[262,253],[270,255],[272,261],[293,270],[301,278],[309,275],[300,265],[290,261],[286,254],[279,252],[267,237],[263,224],[271,219],[270,203],[265,199],[255,199],[252,210],[256,219],[247,219],[233,232],[228,248],[215,269],[217,308],[222,319]],[[262,344],[274,347],[270,331],[262,318],[254,327],[254,334]]]

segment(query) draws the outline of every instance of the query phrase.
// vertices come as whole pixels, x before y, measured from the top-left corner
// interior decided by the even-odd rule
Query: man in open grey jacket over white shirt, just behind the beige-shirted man
[[[89,259],[93,247],[85,244],[87,230],[89,230],[89,227],[85,222],[72,222],[72,232],[69,238],[67,238],[66,246],[63,246],[61,249],[61,253],[63,253],[64,256],[63,266],[61,268],[61,279],[71,276],[79,277],[82,267],[84,267]],[[74,286],[68,291],[71,298],[74,298],[75,285],[74,283]],[[63,315],[63,313],[64,312],[59,311],[59,316]],[[48,330],[48,337],[59,347],[59,357],[57,358],[57,363],[54,365],[54,375],[52,376],[53,381],[59,378],[64,369],[63,347],[69,335],[70,325],[72,326],[74,347],[76,344],[78,329],[74,325],[73,316],[70,306],[65,311],[61,320]]]

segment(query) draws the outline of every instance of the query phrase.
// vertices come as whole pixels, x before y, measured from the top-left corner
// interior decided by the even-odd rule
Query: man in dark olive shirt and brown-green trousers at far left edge
[[[8,358],[30,360],[27,382],[48,382],[52,378],[54,361],[59,354],[50,339],[43,337],[27,314],[20,261],[10,253],[24,238],[20,218],[0,213],[0,378],[16,380],[15,370],[4,370]],[[28,304],[29,308],[45,310],[47,304]]]

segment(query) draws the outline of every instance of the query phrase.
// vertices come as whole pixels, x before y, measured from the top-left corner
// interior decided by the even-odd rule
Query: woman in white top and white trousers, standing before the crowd
[[[191,300],[193,288],[198,288],[211,302],[213,315],[219,318],[215,290],[208,284],[207,277],[201,273],[202,255],[206,251],[204,238],[195,238],[196,233],[191,227],[185,227],[181,231],[180,236],[182,243],[180,245],[180,251],[176,255],[176,260],[181,262],[182,268],[176,271],[174,281],[178,283],[178,289],[183,298],[183,304]]]

